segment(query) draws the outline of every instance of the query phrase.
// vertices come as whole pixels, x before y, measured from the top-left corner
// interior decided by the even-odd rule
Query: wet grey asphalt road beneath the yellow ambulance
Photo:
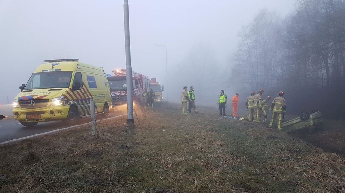
[[[121,114],[126,114],[127,111],[124,110],[111,110],[110,116],[118,116]],[[103,119],[102,114],[97,115],[96,119]],[[87,123],[90,121],[90,117],[82,118],[78,124]],[[76,125],[78,125],[76,124]],[[66,125],[62,121],[53,121],[53,122],[42,122],[38,123],[34,127],[24,127],[19,123],[19,121],[14,120],[13,118],[0,120],[0,142],[8,141],[12,139],[18,139],[21,137],[27,137],[30,135],[35,135],[39,133],[48,132],[51,130],[56,130],[64,127],[69,127],[72,125]]]

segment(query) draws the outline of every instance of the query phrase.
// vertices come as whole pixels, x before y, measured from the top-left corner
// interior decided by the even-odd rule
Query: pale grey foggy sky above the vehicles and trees
[[[259,9],[283,17],[294,3],[129,0],[132,70],[165,84],[165,49],[154,44],[167,46],[169,73],[200,43],[210,46],[218,61],[229,67],[238,32]],[[107,73],[125,68],[123,15],[122,0],[0,0],[0,103],[7,103],[7,95],[12,103],[18,87],[43,60],[79,58]],[[173,84],[174,78],[178,77],[169,77],[169,86],[182,88]]]

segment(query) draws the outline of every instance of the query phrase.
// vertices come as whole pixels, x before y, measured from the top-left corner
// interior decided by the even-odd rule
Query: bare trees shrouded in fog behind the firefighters
[[[244,94],[283,90],[290,112],[344,117],[344,0],[300,0],[285,18],[260,10],[239,37],[230,79]]]

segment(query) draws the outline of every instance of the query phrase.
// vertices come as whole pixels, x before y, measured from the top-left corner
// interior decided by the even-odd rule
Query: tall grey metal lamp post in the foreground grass
[[[134,124],[133,82],[132,82],[132,66],[131,66],[131,61],[130,61],[128,0],[124,0],[124,18],[125,18],[126,83],[127,83],[127,124]]]

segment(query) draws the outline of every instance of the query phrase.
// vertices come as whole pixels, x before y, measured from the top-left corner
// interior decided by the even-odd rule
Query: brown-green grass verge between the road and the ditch
[[[0,192],[345,192],[345,158],[217,110],[179,113],[1,147]]]

